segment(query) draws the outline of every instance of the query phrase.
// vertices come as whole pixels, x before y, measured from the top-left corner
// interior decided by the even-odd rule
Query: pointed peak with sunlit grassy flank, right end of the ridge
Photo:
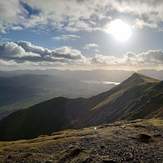
[[[161,85],[156,79],[133,74],[112,90],[91,98],[94,103],[98,102],[91,109],[89,123],[145,118],[154,111],[157,112],[163,106]],[[149,105],[151,110],[148,110]]]

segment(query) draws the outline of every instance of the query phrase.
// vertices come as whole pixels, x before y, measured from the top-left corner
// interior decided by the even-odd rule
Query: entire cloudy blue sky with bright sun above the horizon
[[[162,42],[162,0],[0,0],[0,70],[160,70]]]

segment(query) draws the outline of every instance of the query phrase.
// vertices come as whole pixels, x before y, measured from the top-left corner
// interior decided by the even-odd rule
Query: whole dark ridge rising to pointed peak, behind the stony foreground
[[[163,118],[163,82],[134,73],[91,98],[57,97],[14,112],[0,121],[0,139],[34,138],[67,128],[153,117]]]

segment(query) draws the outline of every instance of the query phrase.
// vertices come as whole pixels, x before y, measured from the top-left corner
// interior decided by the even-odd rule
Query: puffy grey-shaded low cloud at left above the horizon
[[[61,47],[47,49],[33,45],[30,42],[7,42],[0,45],[0,59],[14,60],[15,62],[82,62],[84,56],[77,49]]]

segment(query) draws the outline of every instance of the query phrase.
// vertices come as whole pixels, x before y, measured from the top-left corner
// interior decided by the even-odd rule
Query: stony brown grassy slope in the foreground
[[[162,163],[163,121],[121,121],[0,142],[0,162]]]

